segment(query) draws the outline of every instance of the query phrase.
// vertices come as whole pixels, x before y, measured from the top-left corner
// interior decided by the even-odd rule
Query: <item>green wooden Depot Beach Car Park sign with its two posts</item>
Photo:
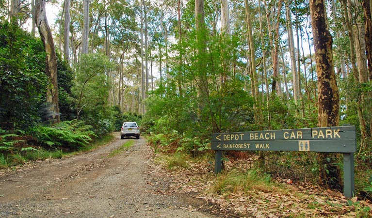
[[[347,198],[354,196],[355,126],[215,133],[212,134],[211,149],[215,150],[215,173],[222,171],[224,150],[342,153],[343,193]]]

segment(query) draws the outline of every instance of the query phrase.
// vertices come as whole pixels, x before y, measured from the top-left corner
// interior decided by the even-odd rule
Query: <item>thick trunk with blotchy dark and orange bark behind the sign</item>
[[[314,37],[316,71],[318,77],[318,125],[340,124],[340,96],[333,65],[332,35],[326,24],[326,8],[323,0],[310,0],[311,26]],[[331,161],[327,161],[331,159]],[[335,154],[319,156],[320,182],[327,187],[340,187],[340,169]]]

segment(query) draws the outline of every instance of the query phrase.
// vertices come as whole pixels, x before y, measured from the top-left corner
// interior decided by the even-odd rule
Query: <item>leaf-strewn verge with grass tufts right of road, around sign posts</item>
[[[268,165],[281,163],[272,167],[274,174],[260,168],[258,153],[234,152],[225,155],[225,170],[215,175],[212,152],[194,156],[177,149],[183,144],[174,132],[168,137],[146,137],[154,150],[154,162],[162,166],[155,175],[171,178],[173,190],[214,205],[212,212],[226,217],[371,217],[369,197],[360,194],[371,187],[364,182],[365,171],[356,171],[357,196],[346,199],[340,190],[319,186],[317,171],[310,168],[315,165],[315,155],[270,154],[280,158],[265,159]]]

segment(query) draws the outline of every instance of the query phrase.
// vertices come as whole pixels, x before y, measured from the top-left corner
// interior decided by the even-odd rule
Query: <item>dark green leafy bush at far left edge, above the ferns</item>
[[[0,125],[25,128],[38,122],[37,108],[45,100],[49,81],[44,70],[41,40],[17,25],[0,22]]]

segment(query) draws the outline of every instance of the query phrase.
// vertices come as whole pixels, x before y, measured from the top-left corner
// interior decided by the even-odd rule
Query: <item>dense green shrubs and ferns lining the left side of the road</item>
[[[101,84],[112,66],[104,56],[84,56],[74,71],[57,53],[61,122],[51,123],[41,40],[6,21],[0,36],[0,169],[94,149],[124,121],[141,122],[137,114],[108,106],[109,86]]]

